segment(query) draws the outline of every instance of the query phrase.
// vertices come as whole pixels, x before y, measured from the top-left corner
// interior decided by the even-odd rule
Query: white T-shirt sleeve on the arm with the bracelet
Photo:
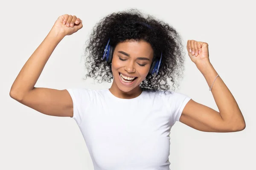
[[[186,104],[191,98],[179,92],[172,92],[169,96],[169,105],[172,111],[172,123],[180,121],[180,116]]]

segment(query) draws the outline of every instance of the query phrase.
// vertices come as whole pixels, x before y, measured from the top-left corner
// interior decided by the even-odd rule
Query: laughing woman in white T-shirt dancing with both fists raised
[[[91,34],[87,76],[113,79],[110,89],[35,88],[58,43],[81,28],[76,16],[58,17],[18,74],[10,96],[41,113],[73,117],[95,170],[168,170],[169,135],[176,121],[206,132],[245,128],[236,100],[209,62],[206,42],[188,40],[186,48],[219,112],[169,91],[168,80],[175,83],[183,68],[180,37],[168,24],[138,11],[110,14]]]

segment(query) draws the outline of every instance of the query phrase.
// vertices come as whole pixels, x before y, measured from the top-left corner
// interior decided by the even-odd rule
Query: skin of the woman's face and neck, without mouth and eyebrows
[[[124,51],[127,56],[118,51]],[[140,83],[148,75],[153,59],[154,51],[151,45],[145,41],[126,41],[116,45],[112,59],[113,84],[110,92],[122,99],[131,99],[142,93]],[[124,61],[120,60],[125,59]],[[145,59],[141,59],[141,57]],[[142,66],[144,65],[144,66]],[[123,85],[119,80],[119,73],[130,77],[137,77],[131,86]]]

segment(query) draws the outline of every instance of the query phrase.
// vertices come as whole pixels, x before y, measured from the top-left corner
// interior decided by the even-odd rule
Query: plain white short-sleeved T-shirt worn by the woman
[[[169,170],[170,130],[188,96],[143,91],[120,99],[108,89],[67,89],[95,170]]]

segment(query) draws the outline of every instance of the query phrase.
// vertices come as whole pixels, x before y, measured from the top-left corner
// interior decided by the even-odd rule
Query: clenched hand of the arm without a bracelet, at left
[[[82,20],[75,15],[61,15],[52,26],[52,30],[56,34],[61,34],[63,37],[71,35],[83,27]]]

